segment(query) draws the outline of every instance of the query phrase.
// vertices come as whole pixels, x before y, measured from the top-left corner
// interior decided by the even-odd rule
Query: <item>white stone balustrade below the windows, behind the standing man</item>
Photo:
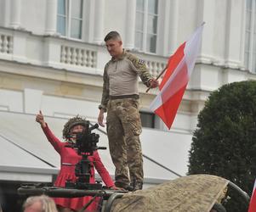
[[[166,66],[167,58],[135,53],[145,59],[152,75]],[[102,74],[110,59],[104,46],[56,36],[38,36],[28,31],[0,27],[0,59],[51,66],[56,69]]]

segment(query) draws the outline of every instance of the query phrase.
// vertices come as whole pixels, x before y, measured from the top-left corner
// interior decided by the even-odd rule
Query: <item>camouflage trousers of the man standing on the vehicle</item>
[[[142,186],[139,101],[135,98],[109,100],[106,124],[111,159],[116,166],[116,183],[124,187],[130,184]]]

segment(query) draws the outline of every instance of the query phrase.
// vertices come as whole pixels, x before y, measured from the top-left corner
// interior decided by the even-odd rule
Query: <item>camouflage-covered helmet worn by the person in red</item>
[[[62,131],[62,136],[63,138],[66,140],[66,141],[69,141],[70,140],[70,136],[71,136],[71,129],[72,127],[74,126],[77,126],[77,125],[82,125],[82,126],[86,126],[86,123],[88,121],[86,119],[83,119],[81,116],[79,116],[77,114],[76,117],[73,117],[71,119],[69,119],[66,123],[65,123],[65,126],[63,128],[63,131]]]

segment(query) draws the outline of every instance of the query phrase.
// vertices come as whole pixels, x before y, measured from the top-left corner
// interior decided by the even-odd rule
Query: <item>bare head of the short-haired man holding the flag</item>
[[[122,38],[117,31],[109,32],[105,38],[105,47],[113,58],[122,55]]]

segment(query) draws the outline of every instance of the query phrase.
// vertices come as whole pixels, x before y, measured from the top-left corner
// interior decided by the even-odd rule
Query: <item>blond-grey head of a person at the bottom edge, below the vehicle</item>
[[[57,212],[54,200],[46,195],[27,198],[23,209],[24,212]]]

